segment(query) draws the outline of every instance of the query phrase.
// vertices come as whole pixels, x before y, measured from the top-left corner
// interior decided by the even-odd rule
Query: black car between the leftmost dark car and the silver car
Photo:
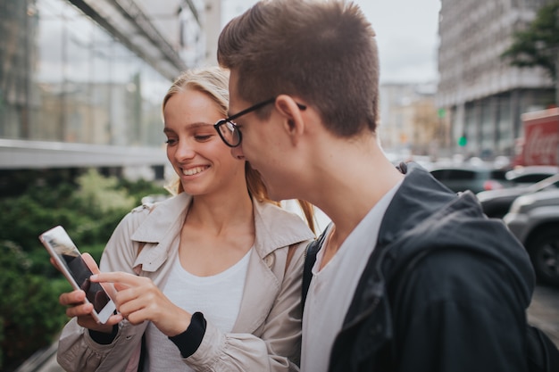
[[[476,196],[480,201],[483,212],[490,218],[502,219],[511,208],[514,200],[525,194],[538,193],[543,190],[559,188],[559,174],[545,178],[528,186],[516,186],[499,190],[482,191]]]

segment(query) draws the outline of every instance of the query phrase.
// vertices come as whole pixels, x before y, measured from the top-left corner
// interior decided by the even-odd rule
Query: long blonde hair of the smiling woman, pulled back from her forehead
[[[227,110],[229,108],[229,71],[223,70],[218,66],[210,66],[204,68],[198,68],[193,70],[188,70],[179,75],[179,78],[175,79],[171,87],[167,91],[167,94],[163,97],[162,103],[162,114],[165,109],[165,105],[171,98],[171,96],[178,93],[184,92],[186,89],[194,89],[199,92],[204,93],[214,103],[219,107],[223,117],[227,117]],[[260,203],[274,203],[280,205],[280,203],[274,202],[270,199],[268,195],[268,190],[263,184],[262,177],[257,170],[253,169],[248,161],[245,163],[245,179],[246,187],[248,193],[254,197]],[[182,184],[177,178],[170,185],[165,186],[165,188],[171,194],[180,194],[184,192]],[[301,211],[305,215],[307,225],[315,232],[314,228],[314,208],[313,204],[298,200]]]

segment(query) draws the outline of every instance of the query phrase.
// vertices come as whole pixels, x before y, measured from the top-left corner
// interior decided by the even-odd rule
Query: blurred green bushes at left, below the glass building
[[[143,196],[166,194],[154,183],[96,171],[75,176],[56,181],[29,173],[18,181],[25,186],[21,194],[0,196],[0,370],[48,346],[68,320],[58,296],[71,286],[50,264],[39,234],[62,225],[79,250],[98,261],[116,225]]]

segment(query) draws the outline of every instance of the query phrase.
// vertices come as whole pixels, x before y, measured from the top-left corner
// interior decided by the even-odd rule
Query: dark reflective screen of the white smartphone
[[[81,257],[78,248],[71,242],[70,237],[60,230],[51,230],[49,233],[43,235],[42,238],[61,259],[60,261],[68,269],[79,288],[86,293],[88,301],[93,303],[96,312],[101,312],[110,301],[109,296],[99,283],[89,280],[93,273]]]

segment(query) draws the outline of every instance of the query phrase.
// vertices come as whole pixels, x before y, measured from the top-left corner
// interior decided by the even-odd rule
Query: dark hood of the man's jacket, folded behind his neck
[[[485,228],[480,228],[480,221]],[[502,222],[484,219],[471,191],[453,193],[427,170],[408,163],[404,181],[382,219],[377,246],[363,270],[345,325],[375,310],[376,305],[371,304],[378,302],[373,299],[386,295],[378,289],[404,269],[406,258],[434,246],[453,247],[458,241],[461,249],[495,257],[508,266],[518,278],[519,295],[530,302],[524,279],[530,277],[530,268],[525,265],[523,250],[503,249],[515,242]]]

